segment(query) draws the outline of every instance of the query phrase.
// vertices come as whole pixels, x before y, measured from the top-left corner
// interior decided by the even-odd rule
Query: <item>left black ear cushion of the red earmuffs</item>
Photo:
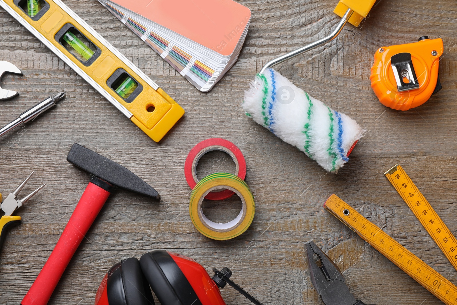
[[[154,305],[149,284],[135,257],[122,260],[108,271],[109,305]]]

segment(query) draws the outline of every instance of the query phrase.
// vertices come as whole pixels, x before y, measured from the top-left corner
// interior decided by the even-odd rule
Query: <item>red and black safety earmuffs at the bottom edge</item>
[[[154,305],[149,286],[161,305],[225,305],[219,287],[238,285],[228,279],[232,274],[228,268],[213,270],[211,278],[193,259],[163,250],[148,252],[139,262],[130,257],[106,273],[95,305]]]

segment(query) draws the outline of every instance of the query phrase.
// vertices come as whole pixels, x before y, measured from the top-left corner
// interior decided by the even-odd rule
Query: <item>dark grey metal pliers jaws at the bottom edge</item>
[[[340,269],[314,241],[306,243],[305,249],[311,282],[325,305],[363,304],[349,292]]]

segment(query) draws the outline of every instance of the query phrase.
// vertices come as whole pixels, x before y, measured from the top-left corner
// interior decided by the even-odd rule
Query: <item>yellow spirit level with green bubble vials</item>
[[[60,0],[0,0],[53,53],[158,142],[184,109]]]

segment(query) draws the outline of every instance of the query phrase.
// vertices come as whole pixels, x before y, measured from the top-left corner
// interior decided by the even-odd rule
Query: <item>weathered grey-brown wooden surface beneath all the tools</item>
[[[455,0],[381,0],[361,28],[346,25],[325,47],[277,67],[311,96],[348,114],[367,134],[338,175],[325,172],[298,149],[244,115],[243,92],[270,59],[324,37],[337,23],[335,0],[239,0],[252,10],[238,62],[209,93],[201,93],[96,0],[64,0],[71,9],[149,75],[186,110],[154,143],[48,48],[0,9],[0,60],[23,76],[2,86],[20,96],[0,102],[1,125],[58,91],[66,101],[28,127],[0,139],[0,191],[14,190],[36,171],[23,192],[47,186],[16,215],[0,252],[0,304],[18,305],[58,241],[89,175],[65,158],[74,142],[117,161],[154,186],[159,203],[119,191],[85,236],[49,304],[93,304],[104,274],[122,258],[166,249],[211,268],[229,267],[233,280],[265,305],[323,304],[309,280],[303,249],[314,240],[343,271],[351,292],[377,305],[440,304],[432,294],[324,211],[332,193],[359,209],[406,248],[457,284],[456,270],[384,177],[400,163],[452,232],[457,186],[457,9]],[[443,89],[421,107],[384,107],[370,88],[377,48],[441,35]],[[184,177],[189,150],[203,139],[234,142],[247,162],[255,196],[254,222],[243,235],[213,241],[197,232],[188,213]],[[233,171],[223,153],[209,153],[198,176]],[[230,220],[240,200],[205,203],[213,220]],[[227,304],[250,304],[222,289]]]

